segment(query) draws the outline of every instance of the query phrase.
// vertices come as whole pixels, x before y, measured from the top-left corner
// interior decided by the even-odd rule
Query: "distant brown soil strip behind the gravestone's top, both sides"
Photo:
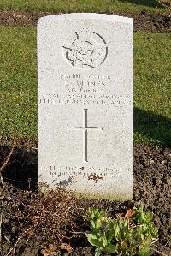
[[[46,15],[54,15],[52,12],[41,11],[15,11],[0,10],[0,25],[11,27],[34,27],[37,25],[38,18]],[[171,32],[171,16],[161,13],[117,13],[112,12],[111,15],[121,15],[133,18],[134,31],[149,32]]]

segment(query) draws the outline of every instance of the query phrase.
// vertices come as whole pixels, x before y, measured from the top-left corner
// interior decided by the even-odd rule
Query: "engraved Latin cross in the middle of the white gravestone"
[[[88,131],[89,130],[98,130],[103,131],[102,128],[88,126],[88,118],[87,118],[88,109],[83,110],[83,125],[75,127],[74,130],[82,130],[83,132],[83,161],[88,162]]]

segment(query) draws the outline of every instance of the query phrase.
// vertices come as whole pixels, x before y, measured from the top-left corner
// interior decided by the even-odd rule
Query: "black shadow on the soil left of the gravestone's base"
[[[0,166],[9,155],[9,146],[0,146]],[[26,147],[15,147],[3,172],[3,181],[16,188],[36,190],[38,183],[38,156],[34,150]]]

